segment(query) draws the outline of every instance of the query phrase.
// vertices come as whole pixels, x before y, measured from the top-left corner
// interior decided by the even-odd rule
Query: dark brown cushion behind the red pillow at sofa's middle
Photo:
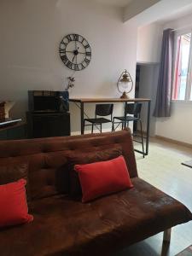
[[[75,165],[90,164],[98,161],[112,160],[122,154],[121,146],[114,148],[102,149],[93,152],[84,152],[79,154],[71,154],[68,157],[69,173],[70,173],[70,195],[81,196],[82,190],[79,181],[79,175],[74,171]]]

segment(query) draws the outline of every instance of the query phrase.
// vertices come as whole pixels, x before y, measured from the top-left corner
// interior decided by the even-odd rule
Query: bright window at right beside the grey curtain
[[[172,100],[192,101],[191,32],[177,35]]]

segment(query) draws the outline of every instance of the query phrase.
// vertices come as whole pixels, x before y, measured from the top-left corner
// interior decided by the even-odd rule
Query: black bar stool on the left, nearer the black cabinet
[[[91,133],[93,133],[94,125],[100,125],[100,132],[102,132],[102,124],[113,123],[112,114],[113,114],[113,104],[96,104],[95,119],[84,119],[84,126],[89,126],[89,125],[85,125],[85,122],[90,123]],[[103,117],[108,115],[110,115],[110,119],[97,117],[97,116]]]

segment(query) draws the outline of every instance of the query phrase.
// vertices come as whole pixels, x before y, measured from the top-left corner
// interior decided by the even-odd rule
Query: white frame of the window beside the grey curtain
[[[174,99],[174,86],[175,86],[175,79],[176,79],[176,57],[177,57],[177,40],[178,37],[183,36],[184,34],[191,33],[191,40],[190,40],[190,49],[189,49],[189,63],[188,63],[188,72],[187,72],[187,82],[186,82],[186,90],[184,100]],[[175,32],[174,35],[174,49],[173,49],[173,70],[172,70],[172,102],[192,102],[191,91],[192,91],[192,28],[183,29]]]

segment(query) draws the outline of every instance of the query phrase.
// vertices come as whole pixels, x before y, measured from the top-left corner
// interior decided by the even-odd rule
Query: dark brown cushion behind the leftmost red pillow
[[[20,178],[26,179],[26,196],[29,201],[28,164],[14,161],[7,166],[0,166],[0,185],[16,182]]]

